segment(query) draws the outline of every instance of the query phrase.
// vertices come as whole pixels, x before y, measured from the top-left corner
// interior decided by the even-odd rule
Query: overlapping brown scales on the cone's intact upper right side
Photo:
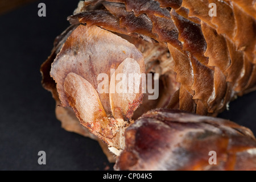
[[[177,3],[176,5],[180,3],[179,1],[171,2]],[[206,109],[206,114],[217,115],[225,109],[225,105],[228,104],[229,100],[255,88],[253,86],[255,85],[255,51],[253,51],[253,47],[255,47],[255,31],[250,28],[255,26],[255,17],[242,13],[246,8],[244,5],[240,6],[242,5],[241,2],[217,2],[218,7],[220,7],[218,11],[223,11],[221,11],[220,16],[213,17],[208,15],[208,5],[210,3],[208,1],[183,1],[181,6],[178,5],[176,7],[172,7],[172,3],[170,3],[170,8],[172,8],[170,11],[171,16],[163,13],[167,10],[163,10],[167,8],[166,2],[163,1],[147,1],[146,4],[141,1],[98,1],[97,5],[100,3],[102,3],[103,9],[104,7],[106,8],[104,12],[110,13],[111,15],[109,16],[115,17],[117,20],[119,19],[119,25],[117,23],[114,26],[105,27],[106,29],[114,31],[113,28],[117,29],[119,26],[119,28],[124,28],[123,30],[127,30],[127,32],[116,31],[118,33],[139,37],[149,42],[151,41],[147,37],[155,39],[159,43],[168,43],[171,56],[175,56],[174,62],[176,64],[172,69],[177,73],[176,81],[184,85],[187,91],[191,93],[193,102],[196,105],[197,100],[200,100],[199,103],[202,104],[197,107],[202,107],[201,109],[199,108],[200,110]],[[140,7],[144,8],[140,10]],[[85,15],[88,13],[97,14],[97,12],[97,10],[85,11],[79,15],[70,16],[69,19],[76,19],[79,16],[79,22],[82,24],[91,24],[93,22],[93,24],[103,27],[102,23],[106,18],[95,21]],[[241,16],[244,16],[246,21],[239,22],[238,16],[240,16],[240,13],[242,13]],[[228,18],[230,25],[220,22],[227,19],[230,14],[233,14]],[[222,16],[223,18],[221,18]],[[232,28],[234,33],[230,34],[229,30],[232,26],[234,27]],[[224,29],[225,27],[226,29]],[[242,30],[242,28],[246,29]],[[249,32],[246,33],[246,31]],[[242,38],[242,36],[247,35],[250,38],[249,36],[246,39]],[[247,41],[247,39],[251,39],[251,41]],[[245,42],[247,43],[245,44]],[[241,48],[243,51],[240,51]],[[186,64],[184,64],[184,61],[181,64],[179,60],[184,60],[184,56],[181,59],[180,55],[187,56],[185,59],[187,60]],[[146,68],[153,61],[151,60],[151,63],[146,62]],[[214,67],[220,69],[214,69]],[[159,71],[160,69],[154,68],[154,70]],[[215,70],[218,72],[214,73]],[[221,80],[214,81],[214,78]],[[249,80],[254,83],[246,84]],[[225,86],[223,89],[217,88],[217,83],[222,83],[223,85],[224,82],[230,82],[233,86],[228,87],[227,90]],[[241,84],[243,86],[240,86]],[[184,90],[184,92],[187,91]],[[225,96],[230,94],[228,100],[225,99],[223,92],[226,93]],[[226,103],[223,103],[223,101],[226,101]],[[214,106],[212,106],[213,104]],[[183,104],[180,103],[180,105]],[[218,105],[224,107],[219,107]]]

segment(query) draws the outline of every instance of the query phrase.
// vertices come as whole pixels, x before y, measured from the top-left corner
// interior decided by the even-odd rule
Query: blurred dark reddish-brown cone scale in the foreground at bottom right
[[[126,129],[125,142],[118,170],[256,169],[253,133],[225,119],[152,110]]]

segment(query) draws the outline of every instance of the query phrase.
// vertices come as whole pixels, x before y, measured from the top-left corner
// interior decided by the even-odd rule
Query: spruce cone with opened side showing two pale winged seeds
[[[209,3],[217,16],[209,16]],[[216,116],[256,89],[255,12],[253,0],[80,1],[41,67],[42,84],[66,130],[99,138],[118,155],[126,128],[151,109]],[[105,90],[117,86],[112,69],[158,73],[158,99],[142,91],[99,93],[101,73],[110,83]],[[135,84],[145,89],[140,79]]]

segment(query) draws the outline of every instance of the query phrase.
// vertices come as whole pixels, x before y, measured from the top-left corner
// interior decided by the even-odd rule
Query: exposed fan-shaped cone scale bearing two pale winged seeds
[[[131,63],[137,67],[130,67]],[[98,75],[105,73],[110,77],[110,69],[117,69],[117,73],[137,71],[140,74],[144,72],[143,66],[143,57],[133,44],[96,26],[80,25],[53,61],[51,76],[57,83],[61,105],[72,107],[81,124],[109,147],[120,149],[123,148],[120,139],[123,129],[139,106],[142,93],[110,98],[108,93],[97,92]],[[110,90],[106,91],[111,93],[111,88],[110,84]],[[127,100],[127,105],[119,105],[122,99]],[[117,114],[118,109],[123,113]]]

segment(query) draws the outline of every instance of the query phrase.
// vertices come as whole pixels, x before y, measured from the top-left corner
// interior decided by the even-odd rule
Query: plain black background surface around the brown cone
[[[79,1],[40,2],[46,17],[38,16],[39,1],[0,16],[0,170],[112,170],[96,141],[61,128],[55,101],[40,83],[40,65]],[[255,101],[256,92],[249,93],[219,117],[256,134]],[[46,165],[38,164],[41,150]]]

